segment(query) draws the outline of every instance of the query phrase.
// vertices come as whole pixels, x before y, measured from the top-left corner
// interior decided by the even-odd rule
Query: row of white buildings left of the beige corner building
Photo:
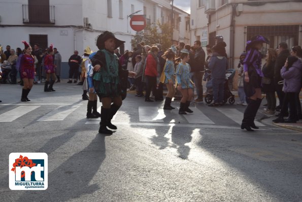
[[[68,59],[74,50],[82,55],[86,46],[96,51],[97,36],[108,30],[125,41],[120,52],[131,50],[136,34],[130,15],[146,15],[147,23],[171,22],[171,0],[0,0],[0,44],[23,48],[21,41],[40,44],[45,49],[53,44],[62,56],[61,77],[68,78]],[[175,27],[188,15],[175,8]],[[183,24],[183,23],[182,23]],[[183,25],[182,25],[183,26]],[[175,28],[175,41],[186,40],[186,28]],[[188,32],[188,31],[187,31]]]

